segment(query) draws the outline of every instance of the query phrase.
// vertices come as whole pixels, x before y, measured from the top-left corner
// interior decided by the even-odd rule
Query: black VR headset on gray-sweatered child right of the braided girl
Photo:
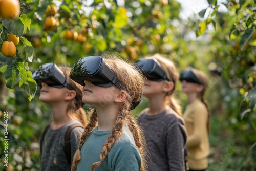
[[[156,59],[139,59],[134,65],[151,81],[170,81]]]

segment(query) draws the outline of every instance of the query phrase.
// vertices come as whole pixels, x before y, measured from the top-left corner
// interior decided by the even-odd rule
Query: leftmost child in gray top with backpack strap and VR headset
[[[70,71],[69,67],[45,63],[32,75],[41,87],[39,100],[52,110],[52,122],[40,137],[41,170],[71,170],[73,155],[87,124],[82,109],[82,86],[69,78]]]

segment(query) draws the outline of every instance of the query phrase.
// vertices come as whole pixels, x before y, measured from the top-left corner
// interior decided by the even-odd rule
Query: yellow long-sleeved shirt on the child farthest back
[[[188,166],[194,170],[206,169],[208,167],[207,157],[210,151],[207,108],[203,102],[196,100],[187,105],[183,117],[188,134]]]

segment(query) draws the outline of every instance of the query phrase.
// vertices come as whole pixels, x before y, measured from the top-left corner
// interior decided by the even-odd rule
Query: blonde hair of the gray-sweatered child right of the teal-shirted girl
[[[162,54],[154,54],[153,56],[146,56],[146,59],[156,59],[161,68],[165,72],[166,76],[174,83],[174,88],[166,94],[166,103],[170,106],[178,115],[182,116],[182,108],[178,99],[175,97],[174,92],[177,87],[179,73],[174,65],[174,62],[165,57]]]

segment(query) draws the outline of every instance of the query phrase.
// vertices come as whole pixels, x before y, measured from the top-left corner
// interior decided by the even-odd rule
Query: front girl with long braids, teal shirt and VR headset
[[[70,78],[84,85],[82,101],[93,107],[72,170],[144,171],[145,141],[130,114],[141,100],[142,75],[111,55],[81,58],[72,71]]]

